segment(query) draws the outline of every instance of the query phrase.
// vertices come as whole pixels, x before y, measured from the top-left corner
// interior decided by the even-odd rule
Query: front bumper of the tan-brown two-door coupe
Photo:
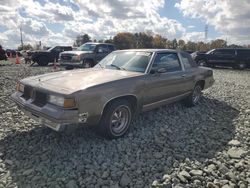
[[[78,110],[67,110],[49,103],[39,107],[33,104],[32,99],[25,100],[21,96],[21,92],[15,92],[11,95],[11,99],[18,105],[19,109],[31,119],[55,131],[61,131],[66,126],[78,125],[86,121],[86,119],[79,119]]]

